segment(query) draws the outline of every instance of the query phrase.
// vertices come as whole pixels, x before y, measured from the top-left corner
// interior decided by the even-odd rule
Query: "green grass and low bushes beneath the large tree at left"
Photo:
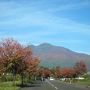
[[[24,77],[23,81],[24,85],[35,83],[33,78],[29,80],[27,77]],[[22,87],[21,83],[22,81],[20,75],[16,76],[15,82],[13,82],[12,74],[8,74],[5,76],[3,75],[2,77],[0,77],[0,90],[20,90],[20,88]]]

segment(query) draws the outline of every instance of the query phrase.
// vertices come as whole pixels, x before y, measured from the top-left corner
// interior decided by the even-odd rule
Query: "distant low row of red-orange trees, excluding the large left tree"
[[[40,76],[45,78],[76,78],[87,73],[87,65],[83,61],[76,62],[72,68],[62,68],[57,66],[56,68],[41,67],[39,70]]]

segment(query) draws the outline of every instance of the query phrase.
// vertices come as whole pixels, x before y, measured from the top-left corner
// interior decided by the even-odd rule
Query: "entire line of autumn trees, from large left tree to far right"
[[[24,78],[30,80],[36,78],[62,78],[62,77],[77,77],[87,72],[87,65],[80,61],[73,68],[45,68],[40,67],[39,58],[33,55],[32,49],[28,46],[23,46],[13,39],[5,39],[0,42],[0,77],[6,76],[8,73],[13,75],[13,80],[20,75],[21,84],[24,83]]]

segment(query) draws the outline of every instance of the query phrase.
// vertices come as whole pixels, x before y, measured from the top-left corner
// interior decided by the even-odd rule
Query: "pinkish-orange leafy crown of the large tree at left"
[[[24,47],[13,39],[0,42],[0,74],[34,74],[39,62],[39,59],[33,56],[31,48]]]

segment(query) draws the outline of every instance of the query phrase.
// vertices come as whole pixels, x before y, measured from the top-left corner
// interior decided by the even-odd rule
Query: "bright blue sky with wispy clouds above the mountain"
[[[90,54],[90,0],[0,0],[3,38]]]

